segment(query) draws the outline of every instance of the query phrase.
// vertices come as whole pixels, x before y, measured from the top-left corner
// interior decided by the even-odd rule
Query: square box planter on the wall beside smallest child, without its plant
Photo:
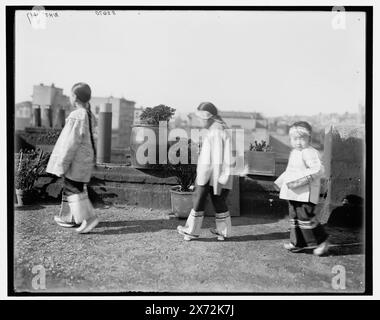
[[[274,152],[246,151],[244,153],[245,165],[248,167],[248,174],[274,176],[276,159]]]

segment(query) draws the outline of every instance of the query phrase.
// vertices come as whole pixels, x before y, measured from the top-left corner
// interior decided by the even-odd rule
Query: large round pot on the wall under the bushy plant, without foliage
[[[166,128],[167,129],[167,128]],[[167,130],[165,141],[160,137],[160,127],[149,124],[136,124],[131,132],[131,165],[137,169],[157,169],[160,165],[160,150],[167,153]],[[161,127],[161,130],[165,128]],[[161,138],[161,139],[160,139]],[[149,157],[149,152],[155,151]],[[148,159],[146,159],[148,157]]]

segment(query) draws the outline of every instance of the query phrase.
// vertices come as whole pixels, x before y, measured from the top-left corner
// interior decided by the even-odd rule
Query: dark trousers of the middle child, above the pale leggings
[[[195,185],[194,197],[193,197],[193,209],[196,212],[204,211],[206,207],[207,195],[210,195],[211,202],[214,206],[216,213],[223,213],[228,211],[226,204],[226,198],[230,190],[222,189],[220,195],[214,194],[214,188],[209,184],[200,186]]]

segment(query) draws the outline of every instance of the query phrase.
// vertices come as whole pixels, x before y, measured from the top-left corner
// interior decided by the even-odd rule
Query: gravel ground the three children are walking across
[[[359,230],[328,228],[330,253],[290,253],[288,223],[275,216],[232,218],[233,236],[219,242],[208,231],[185,242],[169,211],[131,206],[97,208],[101,223],[90,234],[57,226],[58,205],[15,208],[14,288],[33,289],[35,266],[46,272],[43,292],[281,293],[363,292],[364,253]],[[346,272],[334,289],[334,266]],[[37,291],[41,291],[37,290]]]

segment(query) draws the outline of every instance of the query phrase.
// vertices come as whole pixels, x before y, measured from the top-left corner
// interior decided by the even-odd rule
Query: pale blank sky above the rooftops
[[[202,101],[264,116],[357,112],[365,101],[365,15],[274,11],[57,11],[15,26],[16,102],[33,85],[90,84],[94,96],[186,115]]]

